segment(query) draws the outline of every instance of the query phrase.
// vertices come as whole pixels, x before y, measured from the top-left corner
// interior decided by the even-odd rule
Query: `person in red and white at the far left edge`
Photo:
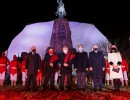
[[[0,57],[0,86],[3,86],[5,80],[6,66],[10,63],[9,59],[5,56],[5,52],[2,52]]]

